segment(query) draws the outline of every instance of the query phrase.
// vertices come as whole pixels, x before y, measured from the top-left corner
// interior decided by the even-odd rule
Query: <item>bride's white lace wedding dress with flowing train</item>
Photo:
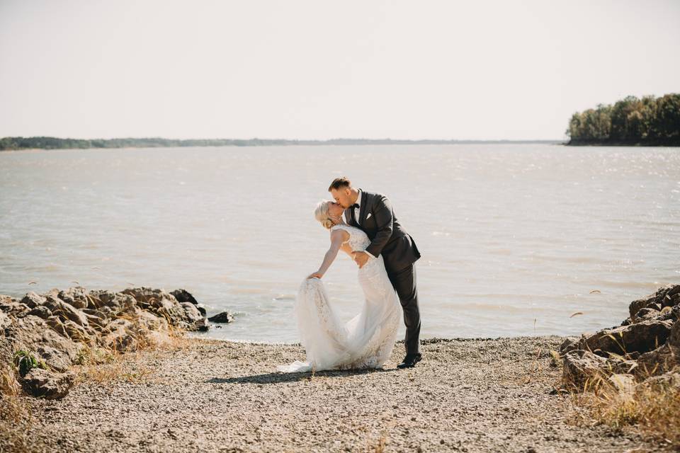
[[[331,228],[349,233],[352,251],[363,251],[370,239],[361,229],[344,224]],[[322,369],[380,368],[390,357],[402,318],[402,306],[385,271],[382,255],[369,258],[358,270],[365,302],[361,313],[347,323],[338,320],[324,284],[305,279],[295,298],[295,316],[306,361],[277,367],[282,372]]]

